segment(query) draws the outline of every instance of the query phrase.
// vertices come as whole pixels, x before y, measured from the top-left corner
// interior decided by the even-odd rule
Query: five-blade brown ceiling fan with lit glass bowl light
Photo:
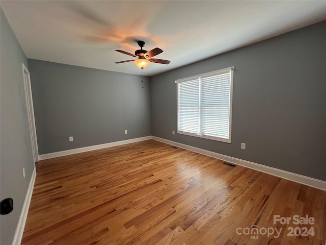
[[[122,54],[130,55],[132,57],[137,57],[138,59],[124,60],[124,61],[119,61],[119,62],[115,62],[115,63],[120,64],[120,63],[133,61],[139,68],[142,68],[142,69],[146,68],[150,62],[159,63],[159,64],[170,64],[170,60],[161,60],[161,59],[153,59],[152,58],[153,56],[158,55],[163,52],[160,48],[155,47],[153,50],[147,52],[147,50],[143,50],[143,46],[145,46],[144,41],[138,41],[138,45],[141,47],[141,49],[136,50],[134,52],[134,55],[131,53],[122,51],[122,50],[116,50],[117,52],[120,52]]]

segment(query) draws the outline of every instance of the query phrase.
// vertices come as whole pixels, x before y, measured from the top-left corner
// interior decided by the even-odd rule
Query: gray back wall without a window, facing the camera
[[[39,154],[151,135],[149,78],[28,62]]]

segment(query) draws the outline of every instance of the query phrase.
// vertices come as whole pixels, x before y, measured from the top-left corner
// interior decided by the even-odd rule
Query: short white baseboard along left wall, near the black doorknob
[[[18,220],[18,225],[16,227],[14,239],[12,241],[12,245],[19,245],[21,243],[22,234],[24,232],[25,223],[27,219],[27,214],[29,212],[30,203],[32,199],[32,193],[34,188],[36,178],[36,168],[34,167],[32,178],[30,180],[29,188],[27,189],[24,204],[22,205],[21,213]]]

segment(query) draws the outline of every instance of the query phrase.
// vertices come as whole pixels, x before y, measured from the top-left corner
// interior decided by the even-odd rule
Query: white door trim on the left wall
[[[22,66],[22,76],[23,76],[23,80],[24,80],[27,116],[28,116],[29,126],[30,126],[30,136],[31,136],[31,143],[32,143],[33,159],[34,159],[34,162],[38,162],[39,161],[39,150],[38,150],[38,146],[37,146],[31,77],[30,77],[30,72],[26,68],[26,66],[23,63],[21,63],[21,66]]]

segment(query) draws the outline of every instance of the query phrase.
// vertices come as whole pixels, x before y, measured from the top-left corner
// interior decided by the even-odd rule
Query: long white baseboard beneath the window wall
[[[288,171],[285,171],[285,170],[265,166],[265,165],[258,164],[258,163],[255,163],[255,162],[250,162],[250,161],[242,160],[242,159],[239,159],[239,158],[230,157],[230,156],[222,155],[222,154],[219,154],[219,153],[203,150],[203,149],[191,146],[191,145],[178,143],[178,142],[175,142],[175,141],[159,138],[159,137],[156,137],[156,136],[152,136],[152,139],[160,141],[160,142],[164,142],[164,143],[167,143],[167,144],[171,144],[171,145],[174,145],[174,146],[178,146],[179,148],[182,148],[182,149],[185,149],[185,150],[189,150],[189,151],[192,151],[192,152],[197,152],[197,153],[200,153],[200,154],[203,154],[203,155],[206,155],[206,156],[210,156],[210,157],[213,157],[213,158],[218,158],[218,159],[221,159],[221,160],[229,162],[229,163],[234,163],[236,165],[252,168],[252,169],[261,171],[261,172],[269,174],[269,175],[274,175],[274,176],[277,176],[277,177],[280,177],[280,178],[283,178],[283,179],[291,180],[291,181],[294,181],[294,182],[297,182],[297,183],[300,183],[300,184],[304,184],[304,185],[308,185],[308,186],[311,186],[311,187],[314,187],[314,188],[317,188],[317,189],[326,190],[326,181],[314,179],[314,178],[303,176],[303,175],[294,174],[294,173],[291,173],[291,172],[288,172]]]

